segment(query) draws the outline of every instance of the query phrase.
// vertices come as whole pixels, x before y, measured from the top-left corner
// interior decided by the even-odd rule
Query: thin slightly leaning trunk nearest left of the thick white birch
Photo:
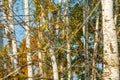
[[[94,53],[92,61],[92,80],[96,80],[96,56],[97,56],[97,47],[98,47],[98,26],[99,26],[99,16],[96,16],[96,29],[95,29],[95,42],[94,42]]]

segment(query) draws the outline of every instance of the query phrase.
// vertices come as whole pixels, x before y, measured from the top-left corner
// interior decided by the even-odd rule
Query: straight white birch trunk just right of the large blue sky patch
[[[30,23],[29,23],[29,0],[25,0],[25,29],[26,29],[26,48],[30,49]],[[28,50],[29,51],[29,50]],[[28,80],[33,80],[32,54],[27,53]]]

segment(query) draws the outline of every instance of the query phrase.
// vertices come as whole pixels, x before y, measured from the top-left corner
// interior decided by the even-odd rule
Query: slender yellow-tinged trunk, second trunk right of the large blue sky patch
[[[34,3],[35,3],[35,7],[36,7],[36,11],[39,10],[39,7],[38,7],[38,3],[36,2],[36,0],[34,0]],[[43,43],[43,33],[42,33],[42,26],[43,24],[45,23],[45,19],[44,19],[44,9],[43,9],[43,2],[40,1],[40,6],[41,6],[41,11],[36,14],[36,24],[37,24],[37,27],[38,27],[38,48],[41,47],[41,43]],[[39,17],[39,18],[38,18]],[[38,74],[40,76],[40,78],[43,78],[44,77],[44,72],[43,72],[43,59],[44,59],[44,54],[43,52],[38,49],[38,59],[39,59],[39,64],[38,64]],[[43,80],[43,79],[41,79]]]

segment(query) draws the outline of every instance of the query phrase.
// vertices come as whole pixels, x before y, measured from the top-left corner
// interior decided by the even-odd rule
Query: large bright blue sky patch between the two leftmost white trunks
[[[24,20],[24,17],[18,17],[16,15],[23,15],[24,11],[23,11],[23,0],[17,0],[15,5],[14,5],[14,17],[15,17],[15,23],[16,20],[20,21],[20,18],[22,20]],[[17,44],[20,43],[20,41],[23,39],[23,37],[25,36],[25,32],[24,29],[20,26],[20,25],[15,25],[15,33],[16,33],[16,40],[17,40]],[[4,39],[4,45],[7,44],[7,40]]]

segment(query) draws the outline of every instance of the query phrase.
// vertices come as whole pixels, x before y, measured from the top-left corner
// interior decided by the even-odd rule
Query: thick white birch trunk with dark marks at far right
[[[113,20],[113,0],[102,0],[102,18],[103,80],[119,80],[118,44]]]

